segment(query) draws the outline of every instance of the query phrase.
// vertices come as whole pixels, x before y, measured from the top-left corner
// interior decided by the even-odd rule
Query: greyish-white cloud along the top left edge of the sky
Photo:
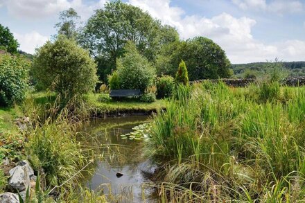
[[[13,17],[42,19],[57,15],[62,10],[74,8],[85,19],[92,15],[92,12],[97,8],[103,8],[107,0],[100,0],[89,6],[82,0],[0,0],[0,4],[1,1]]]

